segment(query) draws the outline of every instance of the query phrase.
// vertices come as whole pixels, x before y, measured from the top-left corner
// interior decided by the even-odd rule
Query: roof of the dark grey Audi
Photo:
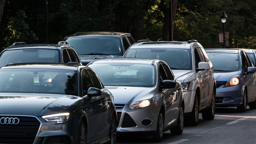
[[[16,63],[16,64],[8,64],[1,69],[18,69],[18,68],[33,68],[33,69],[66,69],[66,70],[77,70],[77,68],[86,67],[82,65],[74,65],[74,64],[63,64],[63,63]]]

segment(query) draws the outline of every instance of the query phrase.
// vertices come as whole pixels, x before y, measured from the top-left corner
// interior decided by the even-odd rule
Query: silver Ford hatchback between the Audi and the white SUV
[[[158,142],[163,139],[164,131],[182,134],[182,85],[164,61],[103,58],[88,66],[113,94],[118,133],[149,134]]]

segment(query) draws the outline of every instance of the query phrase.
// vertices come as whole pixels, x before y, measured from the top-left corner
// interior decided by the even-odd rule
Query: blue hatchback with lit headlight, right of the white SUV
[[[214,67],[216,107],[236,106],[239,112],[256,109],[255,72],[242,49],[205,49]]]

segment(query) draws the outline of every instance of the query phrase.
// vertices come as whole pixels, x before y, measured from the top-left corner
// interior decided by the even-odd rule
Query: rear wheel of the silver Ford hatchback
[[[181,135],[183,133],[183,125],[184,125],[184,111],[183,111],[183,107],[181,107],[181,109],[179,110],[177,126],[173,129],[170,129],[171,134]]]

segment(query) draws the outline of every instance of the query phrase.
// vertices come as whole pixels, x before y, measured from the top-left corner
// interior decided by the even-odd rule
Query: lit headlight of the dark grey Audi
[[[42,116],[47,122],[65,123],[69,121],[69,113],[58,113],[53,115]]]

